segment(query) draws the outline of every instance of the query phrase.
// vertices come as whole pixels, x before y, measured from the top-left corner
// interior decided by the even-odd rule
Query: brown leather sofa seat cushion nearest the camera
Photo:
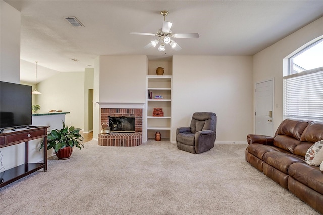
[[[323,173],[319,167],[310,166],[306,163],[294,163],[288,168],[289,176],[323,194]]]

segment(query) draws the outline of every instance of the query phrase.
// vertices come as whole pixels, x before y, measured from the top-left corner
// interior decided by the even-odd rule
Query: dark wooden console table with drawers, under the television
[[[45,126],[31,126],[29,129],[22,131],[0,133],[0,148],[25,142],[25,163],[6,170],[5,172],[0,172],[0,178],[3,179],[3,183],[0,183],[0,187],[6,186],[7,184],[25,177],[26,175],[40,170],[41,168],[44,168],[44,172],[47,171],[47,128],[48,127]],[[29,163],[29,141],[39,138],[44,138],[44,161],[43,163]]]

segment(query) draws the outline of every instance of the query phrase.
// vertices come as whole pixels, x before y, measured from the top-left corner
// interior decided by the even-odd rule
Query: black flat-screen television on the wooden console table
[[[31,86],[0,81],[0,129],[31,125]]]

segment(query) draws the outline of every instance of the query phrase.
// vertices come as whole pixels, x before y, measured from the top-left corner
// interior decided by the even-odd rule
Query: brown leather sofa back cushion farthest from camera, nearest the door
[[[298,119],[285,119],[277,128],[275,137],[277,135],[286,135],[300,140],[304,129],[312,121],[298,120]],[[310,142],[310,141],[309,141]]]

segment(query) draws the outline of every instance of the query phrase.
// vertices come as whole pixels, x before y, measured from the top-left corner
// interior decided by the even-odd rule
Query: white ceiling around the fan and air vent
[[[17,1],[21,12],[21,80],[35,82],[57,72],[84,71],[99,55],[254,55],[323,16],[322,0],[250,1]],[[199,33],[199,39],[174,39],[182,50],[144,49],[156,36],[161,10],[173,33]],[[63,17],[75,16],[84,27]],[[71,59],[78,59],[78,62]],[[88,66],[90,65],[90,66]]]

